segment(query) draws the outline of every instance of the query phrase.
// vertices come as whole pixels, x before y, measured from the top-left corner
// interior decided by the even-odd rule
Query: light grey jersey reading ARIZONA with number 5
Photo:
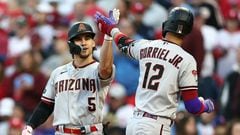
[[[42,100],[54,103],[53,125],[91,125],[102,122],[102,108],[112,76],[102,80],[98,62],[75,68],[71,63],[55,69],[42,94]]]

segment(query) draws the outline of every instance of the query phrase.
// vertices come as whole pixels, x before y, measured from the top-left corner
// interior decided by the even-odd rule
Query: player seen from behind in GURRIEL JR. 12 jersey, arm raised
[[[170,11],[162,27],[163,40],[133,40],[109,18],[100,13],[95,18],[100,31],[112,36],[122,53],[139,61],[136,107],[127,135],[169,135],[180,96],[192,114],[214,110],[210,99],[198,98],[196,61],[181,48],[193,26],[188,9],[175,7]]]

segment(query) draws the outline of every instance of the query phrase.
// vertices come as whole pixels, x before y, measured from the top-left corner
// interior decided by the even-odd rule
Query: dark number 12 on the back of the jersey
[[[145,67],[146,70],[143,78],[142,87],[145,89],[157,90],[160,83],[159,79],[162,77],[164,71],[163,65],[148,62],[145,64]]]

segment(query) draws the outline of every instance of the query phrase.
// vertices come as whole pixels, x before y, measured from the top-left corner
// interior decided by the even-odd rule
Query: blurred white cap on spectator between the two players
[[[126,89],[120,83],[113,83],[109,90],[109,96],[120,99],[126,96]]]

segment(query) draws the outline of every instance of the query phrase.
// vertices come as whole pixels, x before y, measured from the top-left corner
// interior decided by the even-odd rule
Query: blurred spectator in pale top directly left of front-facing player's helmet
[[[69,63],[72,60],[67,44],[67,33],[57,32],[53,47],[55,53],[47,58],[41,66],[41,70],[46,76],[50,76],[50,73],[58,66]]]

